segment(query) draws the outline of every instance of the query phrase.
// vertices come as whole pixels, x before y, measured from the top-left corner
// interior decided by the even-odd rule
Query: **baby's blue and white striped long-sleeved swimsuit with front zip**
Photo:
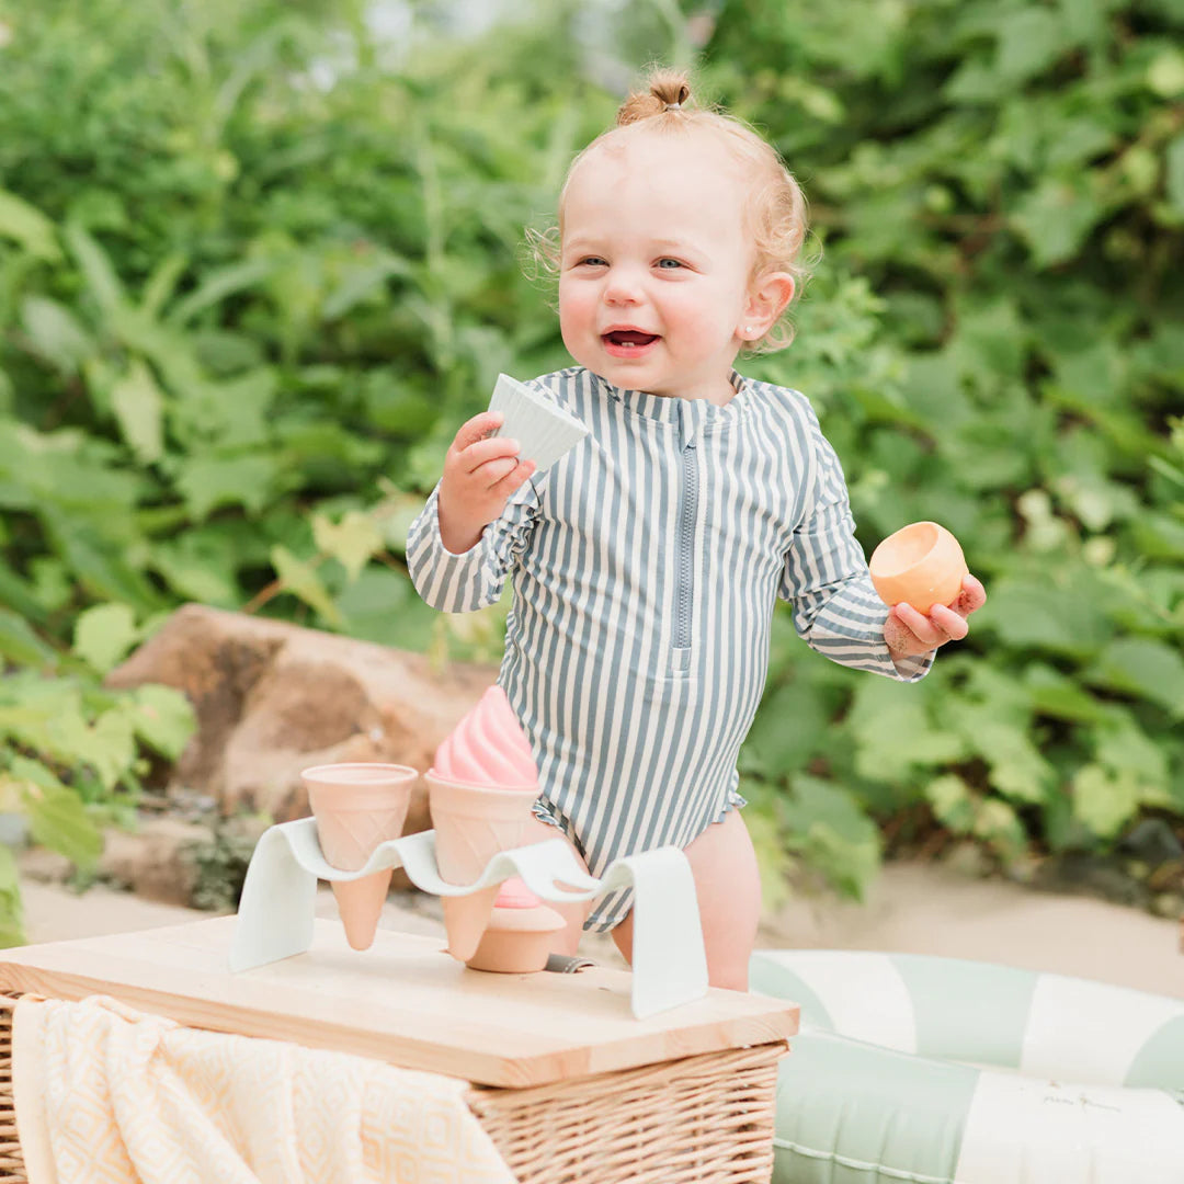
[[[444,548],[438,487],[407,566],[445,612],[514,605],[498,682],[539,764],[536,813],[600,875],[687,847],[733,806],[778,596],[843,665],[913,681],[855,540],[843,472],[806,399],[733,374],[726,406],[625,391],[583,367],[529,384],[590,433],[515,493],[471,551]],[[593,907],[610,929],[626,894]]]

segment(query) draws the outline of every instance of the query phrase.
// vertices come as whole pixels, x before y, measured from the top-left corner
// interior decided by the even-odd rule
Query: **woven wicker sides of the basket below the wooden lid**
[[[0,1184],[28,1184],[17,1137],[12,1018],[0,995]],[[530,1089],[469,1090],[519,1184],[768,1184],[784,1043]]]

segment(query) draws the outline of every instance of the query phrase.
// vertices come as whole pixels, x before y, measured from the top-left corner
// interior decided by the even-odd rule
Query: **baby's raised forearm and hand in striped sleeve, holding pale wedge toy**
[[[407,571],[416,591],[443,612],[472,612],[497,601],[514,559],[526,548],[539,500],[530,461],[517,442],[490,431],[500,412],[463,424],[444,475],[407,532]]]

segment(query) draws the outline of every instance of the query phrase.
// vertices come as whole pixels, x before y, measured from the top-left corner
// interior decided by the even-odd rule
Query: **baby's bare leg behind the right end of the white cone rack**
[[[760,921],[760,874],[757,852],[739,810],[712,823],[686,848],[703,925],[707,978],[712,986],[748,990],[748,959]],[[633,914],[612,931],[626,961],[632,961]]]

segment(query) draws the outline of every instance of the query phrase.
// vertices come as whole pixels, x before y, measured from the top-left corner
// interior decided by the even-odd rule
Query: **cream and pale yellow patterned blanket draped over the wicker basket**
[[[468,1083],[26,996],[13,1032],[30,1184],[514,1184]]]

